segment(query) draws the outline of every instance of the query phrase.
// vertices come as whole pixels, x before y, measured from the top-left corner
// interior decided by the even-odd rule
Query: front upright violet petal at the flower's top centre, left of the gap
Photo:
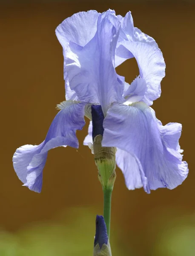
[[[86,45],[69,41],[63,50],[70,89],[80,101],[100,104],[104,114],[110,103],[123,102],[124,79],[115,71],[119,31],[120,21],[109,10],[99,15],[95,36]]]

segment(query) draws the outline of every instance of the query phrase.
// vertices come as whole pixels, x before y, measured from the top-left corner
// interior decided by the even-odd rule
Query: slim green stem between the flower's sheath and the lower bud
[[[103,217],[106,223],[108,237],[110,238],[110,215],[111,215],[111,198],[112,198],[112,189],[104,188],[103,189]]]

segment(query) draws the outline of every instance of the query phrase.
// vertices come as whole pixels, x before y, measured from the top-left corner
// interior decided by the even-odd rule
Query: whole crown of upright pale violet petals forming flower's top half
[[[133,57],[140,70],[136,82],[141,94],[136,96],[152,105],[161,95],[162,53],[152,37],[134,27],[131,12],[125,17],[110,9],[102,14],[78,12],[57,27],[56,35],[63,47],[67,100],[100,104],[105,115],[109,104],[123,102],[124,78],[116,74],[115,67]],[[144,95],[139,88],[143,84]]]

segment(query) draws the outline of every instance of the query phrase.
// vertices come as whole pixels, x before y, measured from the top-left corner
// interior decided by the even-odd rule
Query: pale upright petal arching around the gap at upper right
[[[121,17],[120,20],[121,29],[115,53],[115,65],[117,67],[123,61],[135,57],[140,70],[141,85],[145,83],[146,87],[141,100],[147,105],[152,105],[153,100],[161,95],[161,80],[165,76],[163,55],[152,37],[134,27],[131,12],[128,12],[125,17]],[[138,80],[136,81],[138,82]],[[137,89],[139,86],[140,84]],[[141,89],[138,90],[141,91]]]

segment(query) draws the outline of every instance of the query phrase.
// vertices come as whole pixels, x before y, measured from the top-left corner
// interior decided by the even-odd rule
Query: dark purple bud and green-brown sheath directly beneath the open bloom
[[[99,180],[104,189],[113,189],[116,178],[116,160],[114,147],[102,147],[103,111],[100,105],[92,105],[92,138],[95,164],[99,171]]]

